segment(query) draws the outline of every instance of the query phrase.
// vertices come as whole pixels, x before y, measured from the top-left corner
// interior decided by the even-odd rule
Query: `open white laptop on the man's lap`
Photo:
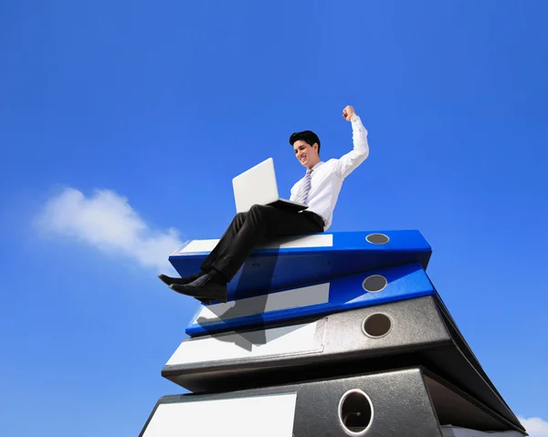
[[[281,199],[274,172],[274,160],[269,158],[232,180],[237,213],[246,213],[254,204],[271,205],[299,212],[308,208],[302,203]]]

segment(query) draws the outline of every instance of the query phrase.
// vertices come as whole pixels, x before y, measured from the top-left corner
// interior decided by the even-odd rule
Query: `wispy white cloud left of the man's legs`
[[[182,245],[178,231],[153,231],[126,198],[111,190],[86,197],[67,188],[47,201],[37,226],[43,233],[74,238],[158,271],[170,268],[168,256]]]

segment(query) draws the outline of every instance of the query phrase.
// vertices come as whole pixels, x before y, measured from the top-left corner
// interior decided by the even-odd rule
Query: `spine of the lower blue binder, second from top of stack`
[[[434,287],[421,265],[414,263],[200,306],[185,332],[190,337],[199,337],[232,329],[268,328],[277,322],[434,294]]]

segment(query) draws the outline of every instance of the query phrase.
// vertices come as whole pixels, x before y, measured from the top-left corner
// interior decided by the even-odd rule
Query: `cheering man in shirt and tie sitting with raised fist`
[[[290,200],[308,205],[300,213],[269,205],[253,205],[237,213],[219,243],[201,265],[201,272],[184,278],[160,275],[174,291],[204,303],[227,301],[227,282],[237,274],[248,255],[264,237],[318,234],[332,224],[332,213],[344,179],[369,156],[367,130],[352,106],[342,117],[353,127],[353,150],[340,159],[320,159],[321,142],[311,130],[293,133],[290,144],[306,175],[291,188]]]

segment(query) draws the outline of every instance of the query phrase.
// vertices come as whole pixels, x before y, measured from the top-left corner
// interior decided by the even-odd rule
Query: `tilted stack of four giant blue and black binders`
[[[199,270],[217,240],[170,256]],[[460,334],[417,231],[262,245],[200,306],[162,369],[190,391],[157,401],[142,437],[527,435]]]

